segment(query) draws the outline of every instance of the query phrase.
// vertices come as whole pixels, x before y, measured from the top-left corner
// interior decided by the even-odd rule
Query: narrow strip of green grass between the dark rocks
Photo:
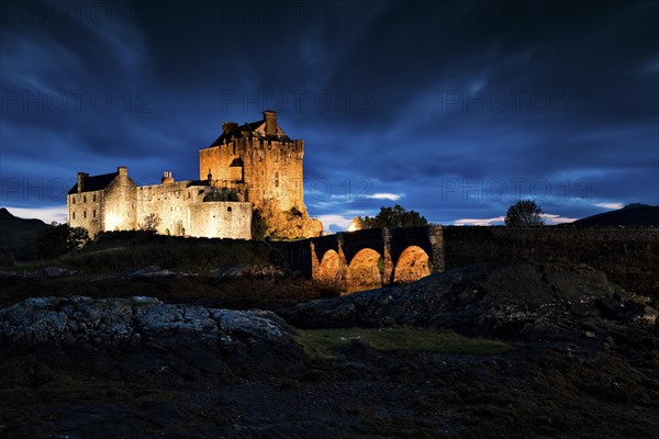
[[[455,333],[434,333],[411,327],[300,329],[295,341],[304,351],[316,358],[334,358],[343,348],[361,340],[380,351],[416,351],[442,353],[468,353],[496,356],[510,350],[510,346],[495,340],[468,338]]]

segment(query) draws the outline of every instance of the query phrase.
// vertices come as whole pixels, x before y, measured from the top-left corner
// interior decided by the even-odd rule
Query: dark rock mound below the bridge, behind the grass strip
[[[657,311],[585,266],[481,263],[418,282],[297,305],[303,327],[410,325],[536,339],[583,322],[654,325]],[[589,327],[590,329],[590,327]]]

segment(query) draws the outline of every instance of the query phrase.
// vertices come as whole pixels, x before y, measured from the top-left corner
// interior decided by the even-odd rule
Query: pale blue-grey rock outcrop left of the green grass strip
[[[147,296],[35,297],[0,309],[0,345],[8,352],[72,349],[89,358],[102,352],[123,368],[182,360],[224,375],[276,373],[294,369],[302,358],[291,334],[271,312],[174,305]]]

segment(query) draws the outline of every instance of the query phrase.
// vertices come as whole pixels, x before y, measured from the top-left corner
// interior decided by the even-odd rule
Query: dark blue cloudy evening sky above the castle
[[[394,203],[442,224],[659,204],[657,1],[0,8],[1,204],[22,216],[62,221],[78,171],[196,179],[223,122],[267,109],[332,230]]]

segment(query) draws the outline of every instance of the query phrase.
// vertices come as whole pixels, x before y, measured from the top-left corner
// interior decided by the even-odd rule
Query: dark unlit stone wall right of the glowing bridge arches
[[[443,228],[446,269],[484,261],[585,263],[627,290],[659,295],[659,228]]]

